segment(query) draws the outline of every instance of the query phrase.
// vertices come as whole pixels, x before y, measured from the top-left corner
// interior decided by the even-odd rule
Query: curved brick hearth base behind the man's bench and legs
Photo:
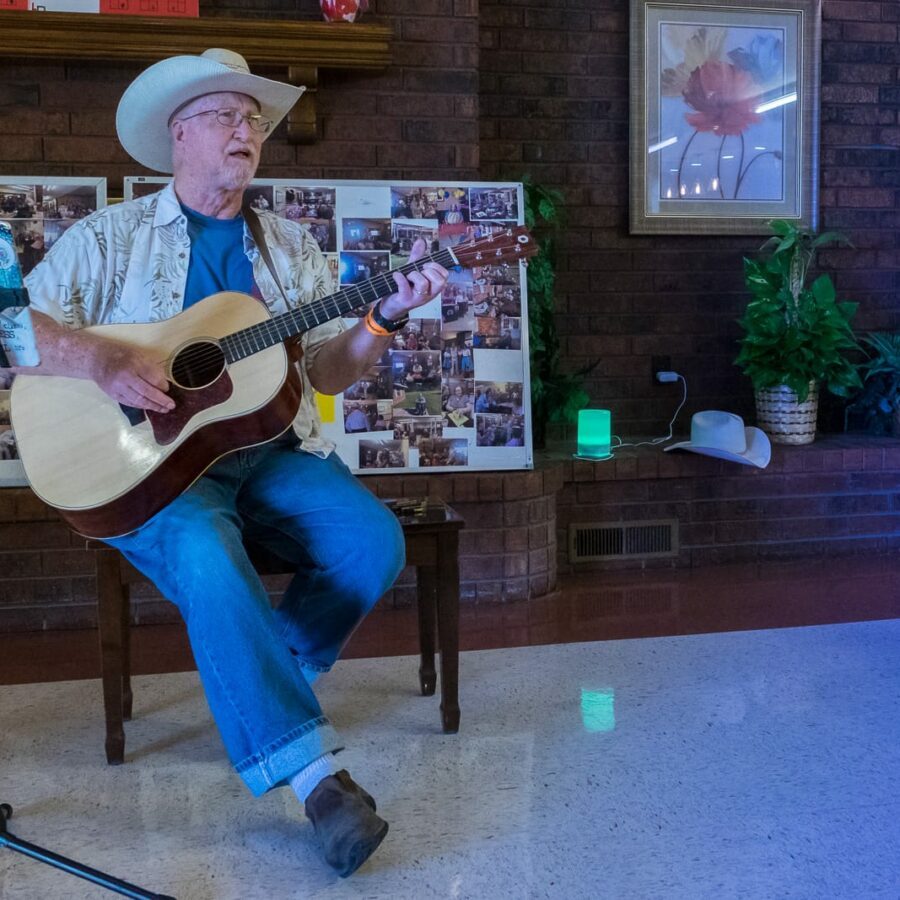
[[[384,498],[442,499],[463,516],[462,602],[527,600],[556,588],[558,463],[532,472],[367,476],[362,483]],[[0,634],[93,626],[94,565],[84,539],[29,489],[0,489]],[[267,580],[274,600],[287,580]],[[138,623],[178,619],[175,607],[149,585],[135,586],[132,597]],[[407,569],[382,602],[408,606],[414,597],[414,571]]]

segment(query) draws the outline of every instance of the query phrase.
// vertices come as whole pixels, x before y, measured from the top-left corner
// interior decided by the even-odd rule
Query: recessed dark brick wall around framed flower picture
[[[680,391],[651,384],[657,354],[688,378],[684,430],[704,408],[752,421],[751,388],[732,360],[741,257],[761,239],[628,234],[628,8],[482,0],[482,174],[528,172],[564,191],[563,355],[571,368],[599,358],[588,386],[617,431],[664,433]],[[829,250],[821,262],[859,301],[864,330],[900,326],[898,28],[896,0],[824,2],[820,218],[856,249]],[[823,411],[835,429],[836,406]]]

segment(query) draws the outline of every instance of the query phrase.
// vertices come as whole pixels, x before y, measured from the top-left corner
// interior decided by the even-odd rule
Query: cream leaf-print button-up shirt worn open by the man
[[[272,213],[258,215],[287,295],[286,301],[245,224],[244,250],[269,312],[287,312],[332,293],[331,273],[309,229]],[[158,322],[181,312],[190,252],[187,219],[169,184],[76,222],[25,285],[33,308],[67,328]],[[334,444],[322,437],[307,366],[343,330],[342,321],[333,319],[302,338],[303,398],[294,431],[301,448],[319,456],[327,456]]]

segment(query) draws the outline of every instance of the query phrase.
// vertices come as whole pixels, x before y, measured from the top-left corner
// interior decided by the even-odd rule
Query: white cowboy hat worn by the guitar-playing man
[[[260,115],[272,120],[274,130],[305,90],[251,75],[244,57],[231,50],[173,56],[154,63],[128,85],[116,111],[116,131],[122,146],[142,166],[170,173],[169,119],[185,103],[222,91],[247,94],[259,103]]]

